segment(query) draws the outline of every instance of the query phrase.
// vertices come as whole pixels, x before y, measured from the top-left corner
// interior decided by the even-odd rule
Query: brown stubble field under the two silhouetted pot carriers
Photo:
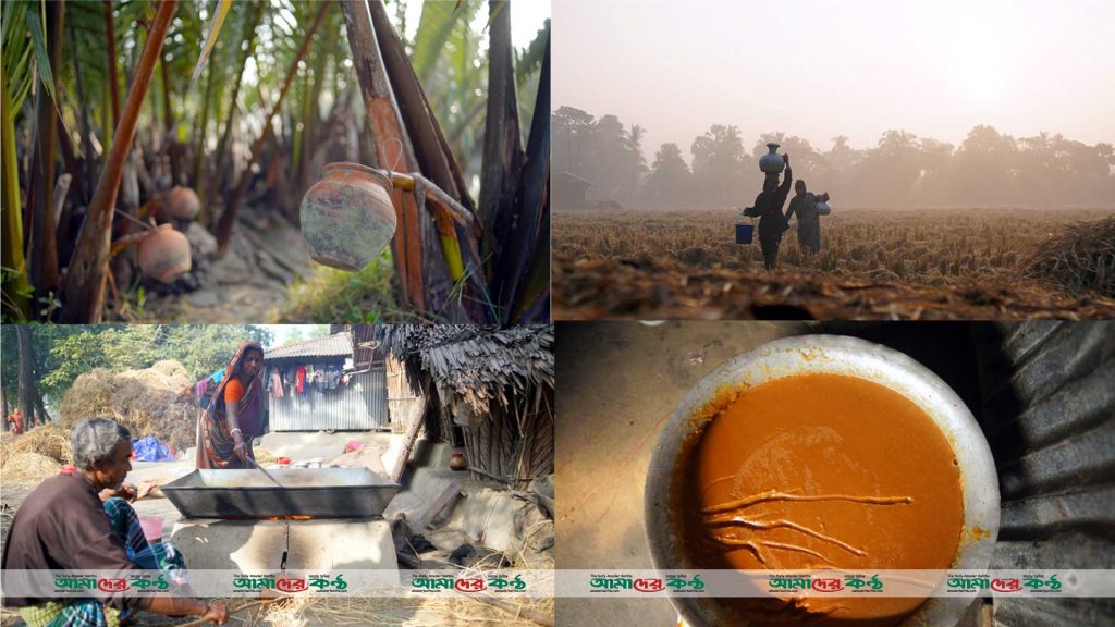
[[[731,210],[566,210],[553,216],[555,318],[1112,317],[1115,300],[1030,268],[1112,210],[837,209],[806,255],[796,222],[774,272]],[[1107,221],[1111,223],[1111,220]],[[1106,258],[1105,258],[1106,259]],[[1106,266],[1101,267],[1104,272]]]

